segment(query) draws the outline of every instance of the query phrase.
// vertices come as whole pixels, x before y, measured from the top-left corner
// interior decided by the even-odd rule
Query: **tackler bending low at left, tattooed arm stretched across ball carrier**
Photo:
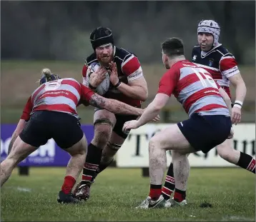
[[[106,99],[72,78],[61,79],[43,69],[40,85],[24,107],[21,119],[11,138],[9,155],[1,162],[1,186],[14,167],[39,146],[54,138],[56,144],[72,157],[67,165],[67,175],[59,191],[59,203],[77,203],[72,188],[84,166],[87,140],[80,128],[77,106],[91,104],[112,113],[139,116],[142,109],[114,99]],[[27,121],[27,123],[26,123]]]

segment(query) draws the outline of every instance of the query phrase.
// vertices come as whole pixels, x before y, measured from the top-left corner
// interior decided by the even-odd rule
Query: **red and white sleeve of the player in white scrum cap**
[[[238,74],[240,72],[234,56],[232,56],[231,54],[227,56],[222,56],[222,58],[220,59],[220,71],[227,78],[234,76],[235,74]]]

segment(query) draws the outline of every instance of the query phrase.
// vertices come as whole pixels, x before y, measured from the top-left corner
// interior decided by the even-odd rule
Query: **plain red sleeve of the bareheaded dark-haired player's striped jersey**
[[[177,86],[179,74],[175,69],[169,69],[161,78],[157,94],[167,94],[172,96],[172,93]]]

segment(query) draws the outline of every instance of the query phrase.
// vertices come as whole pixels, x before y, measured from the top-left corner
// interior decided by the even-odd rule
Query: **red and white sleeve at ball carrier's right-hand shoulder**
[[[122,72],[127,76],[128,81],[139,79],[143,76],[142,66],[140,66],[139,59],[130,55],[122,62]]]

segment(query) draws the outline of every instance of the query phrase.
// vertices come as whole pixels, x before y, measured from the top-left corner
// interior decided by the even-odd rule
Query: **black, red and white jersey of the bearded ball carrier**
[[[98,60],[95,52],[88,56],[85,60],[85,64],[82,69],[83,84],[88,86],[89,79],[87,79],[87,69],[92,63],[97,61]],[[123,82],[124,84],[128,84],[129,81],[139,79],[143,76],[142,66],[139,63],[139,59],[129,51],[114,46],[113,61],[117,64],[119,81]],[[122,101],[130,106],[139,107],[142,104],[142,101],[139,99],[132,99],[129,96],[122,94],[122,92],[115,89],[111,83],[109,86],[109,91],[107,91],[107,93],[103,96],[109,99],[117,99],[118,101]]]

